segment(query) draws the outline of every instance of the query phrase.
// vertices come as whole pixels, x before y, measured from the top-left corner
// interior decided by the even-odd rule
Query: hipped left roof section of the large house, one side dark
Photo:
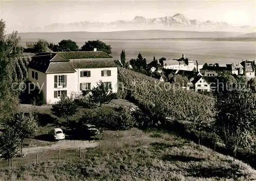
[[[56,53],[38,53],[31,57],[28,65],[31,69],[42,73],[74,73],[69,60]]]

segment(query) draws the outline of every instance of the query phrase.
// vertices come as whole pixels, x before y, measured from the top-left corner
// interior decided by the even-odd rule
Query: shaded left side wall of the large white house
[[[32,78],[32,71],[36,74],[37,73],[37,80],[36,77]],[[33,82],[44,94],[44,101],[47,102],[47,75],[45,73],[36,71],[34,69],[28,69],[28,80]],[[27,87],[29,88],[29,87]]]

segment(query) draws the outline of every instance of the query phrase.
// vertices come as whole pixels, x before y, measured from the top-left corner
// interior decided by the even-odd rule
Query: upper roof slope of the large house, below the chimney
[[[67,59],[85,59],[85,58],[112,58],[105,52],[101,51],[78,51],[78,52],[55,52]]]

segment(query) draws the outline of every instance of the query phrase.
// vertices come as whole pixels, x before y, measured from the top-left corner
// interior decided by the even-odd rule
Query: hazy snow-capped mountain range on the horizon
[[[199,21],[197,19],[188,19],[183,14],[177,13],[174,16],[158,18],[135,16],[133,20],[117,20],[109,23],[80,21],[69,24],[51,24],[44,28],[30,28],[29,32],[110,32],[125,30],[229,31],[244,33],[256,31],[255,27],[234,27],[227,24],[227,22]]]

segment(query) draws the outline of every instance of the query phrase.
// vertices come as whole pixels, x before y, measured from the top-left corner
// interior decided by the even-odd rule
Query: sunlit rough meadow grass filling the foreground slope
[[[106,131],[97,148],[45,152],[38,165],[2,168],[0,180],[253,180],[255,170],[230,156],[219,154],[167,132]],[[64,151],[64,150],[63,150]],[[35,155],[21,160],[33,162]],[[35,162],[35,161],[34,161]]]

